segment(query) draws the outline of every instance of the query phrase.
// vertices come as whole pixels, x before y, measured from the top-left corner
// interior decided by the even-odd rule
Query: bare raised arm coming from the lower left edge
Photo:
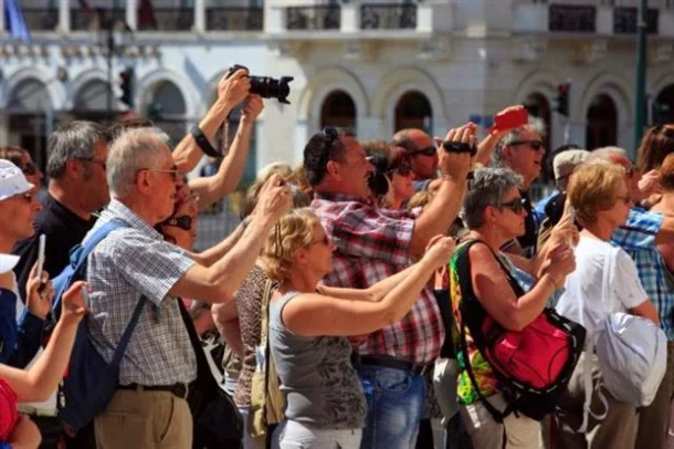
[[[63,378],[70,362],[77,324],[86,314],[81,290],[82,281],[75,282],[63,296],[63,311],[44,353],[29,370],[0,365],[0,377],[12,387],[20,401],[45,400]]]

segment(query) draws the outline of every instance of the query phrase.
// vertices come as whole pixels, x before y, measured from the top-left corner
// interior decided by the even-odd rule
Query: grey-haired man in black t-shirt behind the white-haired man
[[[83,121],[61,127],[50,137],[44,208],[35,219],[35,234],[12,251],[21,257],[14,272],[22,297],[38,259],[40,234],[46,236],[44,270],[54,278],[69,263],[70,250],[94,226],[92,213],[109,201],[105,177],[107,143],[103,126]]]

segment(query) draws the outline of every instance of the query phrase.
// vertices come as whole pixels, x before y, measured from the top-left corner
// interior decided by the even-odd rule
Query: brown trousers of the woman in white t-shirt
[[[555,428],[551,431],[552,448],[633,449],[636,438],[636,408],[618,401],[605,388],[602,388],[601,391],[609,403],[607,417],[601,421],[597,421],[590,416],[587,434],[578,434],[576,431],[582,424],[586,355],[585,352],[580,355],[576,370],[569,380],[567,391],[559,403],[560,413],[555,416]],[[600,377],[597,356],[592,356],[592,384],[597,384]],[[592,394],[590,408],[597,414],[604,411],[597,390]]]

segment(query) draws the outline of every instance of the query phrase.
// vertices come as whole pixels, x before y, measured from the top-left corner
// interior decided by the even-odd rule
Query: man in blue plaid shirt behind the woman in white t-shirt
[[[618,147],[592,152],[586,164],[609,161],[626,170],[625,182],[632,201],[639,205],[645,197],[640,176],[625,152]],[[642,184],[643,185],[643,184]],[[660,322],[667,334],[667,370],[653,404],[639,410],[639,430],[634,447],[664,449],[670,421],[670,401],[674,394],[674,290],[667,282],[667,268],[657,244],[674,242],[674,217],[634,206],[625,226],[613,233],[613,244],[624,249],[636,263],[639,279],[657,307]]]

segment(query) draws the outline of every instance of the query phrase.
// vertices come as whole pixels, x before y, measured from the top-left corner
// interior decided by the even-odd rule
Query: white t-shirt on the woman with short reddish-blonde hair
[[[626,312],[649,299],[639,280],[634,261],[622,248],[581,236],[575,253],[576,271],[567,276],[566,291],[556,309],[560,315],[581,323],[589,334],[594,332],[609,313]],[[609,257],[613,258],[609,278],[610,297],[603,300],[607,303],[602,304],[604,262]],[[579,297],[583,302],[582,320]]]

